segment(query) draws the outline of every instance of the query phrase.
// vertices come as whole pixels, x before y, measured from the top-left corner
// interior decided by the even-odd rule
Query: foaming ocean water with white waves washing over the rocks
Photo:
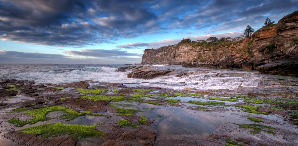
[[[0,64],[1,79],[34,80],[36,83],[69,83],[82,80],[124,83],[127,86],[150,86],[196,89],[235,89],[257,87],[268,75],[243,69],[190,68],[172,65],[153,65],[157,69],[179,69],[194,72],[190,76],[156,77],[152,80],[128,78],[129,72],[114,70],[124,64]]]

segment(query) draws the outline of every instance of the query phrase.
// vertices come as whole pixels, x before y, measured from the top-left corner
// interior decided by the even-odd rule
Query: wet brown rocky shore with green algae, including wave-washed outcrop
[[[187,76],[126,66],[128,77]],[[221,76],[222,74],[218,74]],[[0,143],[10,145],[298,145],[298,79],[172,90],[92,80],[0,80]]]

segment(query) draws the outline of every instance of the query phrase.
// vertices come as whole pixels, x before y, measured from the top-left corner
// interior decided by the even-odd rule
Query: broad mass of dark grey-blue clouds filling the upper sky
[[[0,39],[85,46],[171,29],[242,30],[260,26],[267,16],[275,20],[294,12],[297,5],[297,0],[0,0]]]

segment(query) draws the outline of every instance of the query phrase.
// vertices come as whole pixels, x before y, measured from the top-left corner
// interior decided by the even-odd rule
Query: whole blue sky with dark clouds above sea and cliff
[[[183,38],[237,37],[298,0],[0,0],[0,63],[132,64]]]

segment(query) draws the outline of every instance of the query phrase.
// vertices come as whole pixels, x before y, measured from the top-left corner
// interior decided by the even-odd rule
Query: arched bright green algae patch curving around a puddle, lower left
[[[85,113],[79,113],[79,112],[76,112],[73,109],[68,109],[66,107],[51,106],[51,107],[43,107],[43,108],[40,108],[40,109],[32,109],[32,110],[29,110],[29,111],[25,112],[24,114],[34,116],[34,118],[32,118],[30,120],[21,121],[17,118],[12,118],[12,119],[8,120],[7,122],[15,124],[16,127],[23,127],[26,124],[31,125],[31,124],[37,123],[38,121],[50,120],[51,118],[46,117],[46,114],[48,114],[49,112],[54,112],[54,111],[63,111],[65,114],[61,115],[60,118],[67,119],[67,121],[73,120],[78,116],[85,115]]]

